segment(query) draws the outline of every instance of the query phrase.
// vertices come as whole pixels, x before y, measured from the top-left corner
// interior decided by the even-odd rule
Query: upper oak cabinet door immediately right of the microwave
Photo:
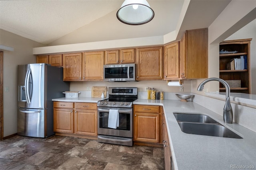
[[[137,49],[136,55],[136,80],[161,80],[163,78],[162,47]]]

